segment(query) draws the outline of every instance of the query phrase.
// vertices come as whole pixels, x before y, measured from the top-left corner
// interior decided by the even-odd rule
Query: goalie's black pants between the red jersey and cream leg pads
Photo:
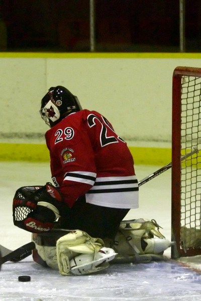
[[[113,239],[129,210],[92,205],[82,197],[59,219],[58,228],[80,229],[92,237]]]

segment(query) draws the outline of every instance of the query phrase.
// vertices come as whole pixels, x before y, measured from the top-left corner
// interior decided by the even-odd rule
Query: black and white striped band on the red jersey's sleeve
[[[89,172],[69,172],[64,175],[64,180],[94,185],[96,179],[95,173]]]

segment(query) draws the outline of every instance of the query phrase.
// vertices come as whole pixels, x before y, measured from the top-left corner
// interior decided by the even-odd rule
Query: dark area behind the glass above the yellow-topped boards
[[[180,51],[179,0],[94,3],[96,52]],[[89,0],[2,0],[0,8],[0,51],[90,51]],[[185,52],[201,50],[200,12],[200,0],[185,1]]]

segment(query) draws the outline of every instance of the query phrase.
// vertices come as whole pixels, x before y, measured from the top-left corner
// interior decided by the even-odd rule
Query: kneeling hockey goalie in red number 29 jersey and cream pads
[[[170,242],[154,220],[124,221],[138,208],[138,180],[125,141],[100,113],[51,87],[40,113],[50,129],[51,183],[25,186],[13,200],[14,224],[32,232],[34,260],[62,275],[97,272],[109,262],[161,258]]]

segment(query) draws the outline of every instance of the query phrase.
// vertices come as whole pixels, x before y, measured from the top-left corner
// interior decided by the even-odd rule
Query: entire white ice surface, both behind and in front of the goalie
[[[137,166],[139,180],[159,166]],[[48,163],[0,162],[0,244],[12,250],[31,241],[31,234],[13,225],[12,202],[21,186],[43,185],[51,181]],[[171,239],[171,170],[140,187],[140,208],[126,219],[155,219],[161,232]],[[201,274],[170,259],[138,264],[111,264],[98,274],[62,276],[44,268],[32,256],[6,262],[0,272],[0,301],[200,301]],[[18,276],[30,275],[30,282]]]

